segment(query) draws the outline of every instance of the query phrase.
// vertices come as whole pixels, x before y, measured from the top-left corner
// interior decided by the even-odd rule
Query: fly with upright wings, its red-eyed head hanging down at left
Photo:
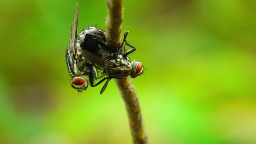
[[[68,69],[68,73],[71,77],[71,86],[78,92],[82,92],[88,88],[88,80],[92,87],[94,85],[94,79],[100,79],[105,75],[97,77],[97,70],[92,65],[92,63],[84,58],[79,50],[88,50],[97,55],[102,55],[101,46],[98,42],[106,42],[105,33],[96,27],[89,27],[83,30],[78,36],[77,33],[77,23],[78,23],[78,3],[76,8],[76,15],[73,22],[71,21],[70,26],[70,40],[66,49],[65,59]],[[97,40],[96,40],[97,39]]]

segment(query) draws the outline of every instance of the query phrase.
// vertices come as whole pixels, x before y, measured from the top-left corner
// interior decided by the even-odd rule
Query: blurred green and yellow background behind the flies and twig
[[[114,80],[78,94],[65,49],[77,1],[0,2],[0,143],[131,144]],[[256,144],[256,1],[124,0],[150,144]],[[78,32],[106,1],[79,1]]]

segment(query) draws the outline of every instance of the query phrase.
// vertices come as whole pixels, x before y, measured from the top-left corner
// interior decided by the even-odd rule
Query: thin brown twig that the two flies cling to
[[[123,0],[107,0],[106,37],[107,44],[119,47],[122,43]],[[129,124],[134,144],[147,144],[138,96],[129,77],[115,79],[129,117]]]

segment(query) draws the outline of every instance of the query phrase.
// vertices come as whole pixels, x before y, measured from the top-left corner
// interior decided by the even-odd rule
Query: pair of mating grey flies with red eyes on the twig
[[[136,49],[130,45],[127,40],[128,31],[124,34],[124,40],[119,48],[112,48],[106,45],[105,32],[96,27],[89,27],[76,36],[78,22],[78,3],[76,16],[70,26],[70,40],[66,50],[66,64],[68,73],[71,77],[71,86],[78,92],[86,90],[88,80],[92,87],[105,82],[100,94],[107,88],[108,82],[112,78],[121,78],[131,76],[133,78],[144,72],[141,62],[130,62],[127,55]],[[132,49],[120,54],[121,50],[125,50],[125,45]],[[98,72],[103,72],[101,76],[97,76]],[[101,79],[102,78],[102,79]],[[94,80],[101,79],[94,84]]]

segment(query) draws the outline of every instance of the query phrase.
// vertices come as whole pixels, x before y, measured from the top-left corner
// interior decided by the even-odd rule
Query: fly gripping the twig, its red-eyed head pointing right
[[[132,78],[135,78],[139,75],[141,75],[145,68],[143,67],[142,63],[139,61],[129,61],[129,58],[127,57],[130,53],[134,52],[136,48],[132,45],[130,45],[126,37],[128,35],[128,31],[125,31],[124,34],[124,40],[122,42],[122,45],[120,46],[118,52],[109,52],[108,50],[111,50],[113,48],[109,47],[105,43],[102,43],[101,41],[98,41],[99,45],[101,46],[101,49],[104,51],[105,55],[100,56],[96,55],[95,53],[92,53],[85,49],[79,49],[78,52],[81,53],[81,55],[88,59],[90,62],[92,62],[93,65],[98,70],[103,70],[103,75],[107,75],[108,77],[104,77],[95,85],[98,85],[105,80],[107,80],[103,86],[103,88],[100,91],[100,94],[102,94],[105,89],[107,88],[108,82],[112,79],[118,79],[122,77],[130,76]],[[120,54],[121,50],[124,49],[124,42],[127,46],[131,47],[132,49],[126,51],[124,54]],[[125,49],[124,49],[125,50]]]

